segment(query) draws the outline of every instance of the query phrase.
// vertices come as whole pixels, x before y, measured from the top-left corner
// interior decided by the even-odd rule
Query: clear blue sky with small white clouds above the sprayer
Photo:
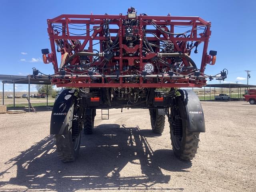
[[[52,64],[43,64],[41,59],[41,49],[50,48],[46,19],[60,14],[125,14],[130,6],[148,15],[200,16],[212,22],[208,50],[217,50],[218,54],[215,66],[208,65],[206,73],[214,75],[227,68],[225,82],[246,84],[244,70],[251,70],[249,83],[256,84],[254,0],[1,0],[0,74],[27,75],[32,67],[46,74],[53,72]],[[198,66],[201,54],[192,55]],[[12,89],[12,85],[5,86],[5,90]],[[26,85],[16,85],[16,91],[27,89]]]

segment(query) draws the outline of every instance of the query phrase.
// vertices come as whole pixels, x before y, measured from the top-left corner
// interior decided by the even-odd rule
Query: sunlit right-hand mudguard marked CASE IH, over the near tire
[[[204,112],[200,100],[192,90],[178,90],[185,104],[185,112],[188,119],[188,131],[205,132]]]

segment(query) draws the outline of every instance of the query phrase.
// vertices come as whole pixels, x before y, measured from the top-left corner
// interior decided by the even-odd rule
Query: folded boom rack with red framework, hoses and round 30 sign
[[[43,60],[57,87],[202,87],[216,59],[207,53],[211,23],[199,17],[62,14],[47,23]],[[198,67],[191,54],[200,44]]]

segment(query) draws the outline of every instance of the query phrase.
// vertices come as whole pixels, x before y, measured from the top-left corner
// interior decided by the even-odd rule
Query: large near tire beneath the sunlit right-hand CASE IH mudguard
[[[194,96],[193,96],[194,97]],[[196,96],[197,97],[197,96]],[[188,99],[187,102],[197,102],[196,106],[201,108],[200,101],[195,98]],[[189,127],[193,120],[189,120],[189,111],[191,110],[186,107],[187,103],[184,101],[182,96],[176,97],[176,104],[171,109],[171,114],[169,118],[170,123],[170,136],[172,142],[172,150],[174,154],[180,159],[189,161],[195,157],[198,149],[198,142],[200,132],[205,131],[204,125],[202,126],[204,130],[196,128],[196,131],[190,131]],[[204,124],[204,116],[202,109],[200,109],[200,114],[203,120],[200,120]],[[191,122],[190,122],[191,121]],[[200,130],[200,132],[199,132]]]

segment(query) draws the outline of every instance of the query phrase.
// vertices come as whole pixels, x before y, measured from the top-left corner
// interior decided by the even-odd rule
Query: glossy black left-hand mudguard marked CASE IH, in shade
[[[73,111],[71,111],[70,108],[74,104],[75,93],[76,90],[64,89],[58,94],[52,109],[50,134],[68,133],[69,118],[71,113],[73,114]]]

